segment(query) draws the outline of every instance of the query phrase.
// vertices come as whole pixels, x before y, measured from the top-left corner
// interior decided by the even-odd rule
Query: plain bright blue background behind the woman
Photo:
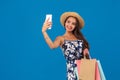
[[[65,30],[63,12],[78,12],[92,58],[101,61],[107,80],[120,74],[119,0],[0,0],[0,80],[66,80],[59,48],[51,50],[41,33],[45,15],[53,14],[51,39]]]

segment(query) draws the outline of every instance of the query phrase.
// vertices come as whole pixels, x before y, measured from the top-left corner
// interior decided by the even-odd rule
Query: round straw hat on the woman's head
[[[69,16],[76,17],[79,21],[79,24],[80,24],[81,28],[84,26],[83,18],[76,12],[65,12],[65,13],[63,13],[60,17],[60,22],[61,22],[62,26],[64,26],[64,22],[65,22],[66,18],[69,17]]]

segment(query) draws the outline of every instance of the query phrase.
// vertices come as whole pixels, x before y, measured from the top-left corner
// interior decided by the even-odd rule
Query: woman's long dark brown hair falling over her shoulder
[[[80,24],[79,24],[78,19],[77,19],[76,17],[74,17],[74,16],[69,16],[69,17],[73,17],[73,18],[76,19],[75,29],[72,31],[72,33],[75,35],[75,37],[76,37],[77,39],[83,40],[83,48],[84,48],[84,49],[85,49],[85,48],[88,48],[88,49],[89,49],[89,48],[90,48],[90,47],[89,47],[89,43],[88,43],[87,40],[84,38],[83,34],[80,32],[81,26],[80,26]],[[66,21],[67,21],[67,19],[68,19],[69,17],[66,18],[66,20],[65,20],[65,22],[64,22],[64,26],[65,26],[65,23],[66,23]]]

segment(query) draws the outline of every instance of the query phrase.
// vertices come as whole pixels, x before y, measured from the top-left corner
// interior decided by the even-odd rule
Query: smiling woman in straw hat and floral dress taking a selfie
[[[54,42],[46,33],[47,28],[52,25],[48,20],[42,27],[43,36],[51,49],[61,47],[67,63],[67,80],[77,80],[75,60],[81,59],[83,55],[89,55],[89,44],[80,32],[84,26],[84,20],[76,12],[63,13],[60,21],[66,32],[62,36],[58,36]]]

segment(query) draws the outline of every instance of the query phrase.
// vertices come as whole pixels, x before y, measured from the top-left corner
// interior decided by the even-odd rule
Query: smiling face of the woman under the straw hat
[[[76,26],[76,19],[74,17],[69,17],[65,22],[65,29],[67,31],[73,31]]]

